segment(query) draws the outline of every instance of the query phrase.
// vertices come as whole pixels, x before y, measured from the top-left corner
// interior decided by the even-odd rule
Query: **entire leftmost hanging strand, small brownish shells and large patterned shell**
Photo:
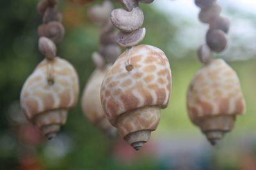
[[[42,0],[38,4],[38,13],[44,16],[38,27],[38,46],[45,59],[28,77],[20,93],[24,115],[48,139],[56,136],[65,124],[68,110],[76,106],[79,93],[76,70],[67,60],[56,57],[55,43],[61,41],[65,32],[56,3]]]

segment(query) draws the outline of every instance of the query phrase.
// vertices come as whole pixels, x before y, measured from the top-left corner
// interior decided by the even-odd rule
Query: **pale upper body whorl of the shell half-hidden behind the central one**
[[[110,67],[109,65],[104,67],[104,69],[95,69],[84,87],[81,102],[82,110],[92,123],[106,117],[100,101],[100,87]]]

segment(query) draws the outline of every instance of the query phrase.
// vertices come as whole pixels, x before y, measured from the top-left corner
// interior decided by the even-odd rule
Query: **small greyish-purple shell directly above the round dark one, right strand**
[[[230,21],[228,20],[228,18],[225,18],[225,17],[216,17],[214,18],[214,20],[211,20],[209,24],[210,24],[210,29],[220,29],[226,34],[230,27]]]

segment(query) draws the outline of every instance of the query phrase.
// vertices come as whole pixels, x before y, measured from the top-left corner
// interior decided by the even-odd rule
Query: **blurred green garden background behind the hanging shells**
[[[143,25],[147,27],[143,43],[161,48],[168,56],[173,92],[157,131],[140,152],[133,151],[122,139],[109,139],[102,134],[84,118],[80,104],[70,111],[67,124],[52,141],[46,141],[30,124],[17,124],[22,119],[19,110],[22,84],[44,59],[37,48],[37,26],[42,22],[36,12],[37,2],[0,2],[0,169],[256,169],[256,60],[247,59],[246,50],[238,46],[236,50],[243,51],[246,60],[241,56],[241,60],[227,61],[241,80],[247,111],[237,118],[234,131],[212,148],[186,113],[189,81],[202,67],[196,58],[196,48],[186,48],[181,43],[175,50],[182,52],[186,48],[182,56],[172,50],[172,46],[179,43],[177,32],[183,27],[193,27],[191,20],[177,24],[173,18],[172,22],[169,15],[154,8],[154,3],[141,4],[145,15]],[[99,49],[100,26],[92,24],[86,16],[86,10],[92,5],[79,6],[67,1],[58,4],[66,29],[65,38],[58,45],[58,56],[76,67],[81,92],[95,68],[91,54]],[[120,4],[115,3],[115,6],[120,7]],[[231,17],[237,15],[233,12],[226,10],[224,13]],[[252,16],[245,17],[255,22]],[[193,20],[198,22],[196,17]],[[200,26],[198,23],[199,29]],[[202,38],[198,39],[203,41],[204,34],[202,29]],[[180,38],[190,42],[189,37]],[[216,57],[225,58],[225,55],[228,54]]]

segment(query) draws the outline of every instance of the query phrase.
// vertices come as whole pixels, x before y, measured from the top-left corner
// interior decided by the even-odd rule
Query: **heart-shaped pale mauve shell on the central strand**
[[[133,8],[132,11],[119,8],[111,12],[112,23],[124,32],[132,32],[139,29],[143,24],[143,20],[143,11],[139,7]]]

